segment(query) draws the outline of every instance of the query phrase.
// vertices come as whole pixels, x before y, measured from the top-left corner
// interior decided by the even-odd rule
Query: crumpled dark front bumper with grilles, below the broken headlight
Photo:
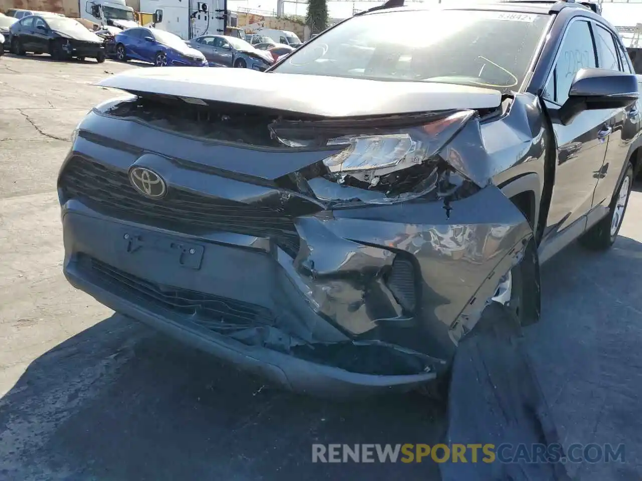
[[[460,177],[466,159],[479,159],[476,120],[444,151],[455,167],[447,188],[435,181],[407,201],[382,200],[363,177],[342,185],[311,171],[336,150],[219,144],[213,156],[208,142],[164,130],[150,153],[158,135],[149,121],[98,112],[80,125],[58,180],[65,276],[117,312],[295,391],[435,379],[532,237],[490,169]],[[132,166],[164,179],[166,198],[136,192]]]

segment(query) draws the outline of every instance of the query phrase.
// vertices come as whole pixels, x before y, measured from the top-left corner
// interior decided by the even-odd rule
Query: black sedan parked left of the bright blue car
[[[11,26],[10,44],[15,55],[49,53],[54,60],[93,57],[105,62],[103,39],[66,17],[24,17]]]

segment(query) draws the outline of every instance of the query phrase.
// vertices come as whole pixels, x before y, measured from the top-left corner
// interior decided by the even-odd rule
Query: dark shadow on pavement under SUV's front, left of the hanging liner
[[[0,437],[28,441],[0,448],[19,466],[3,478],[436,480],[425,460],[372,469],[313,464],[311,453],[313,443],[435,444],[440,409],[417,394],[336,403],[270,389],[114,315],[33,361],[0,400]]]

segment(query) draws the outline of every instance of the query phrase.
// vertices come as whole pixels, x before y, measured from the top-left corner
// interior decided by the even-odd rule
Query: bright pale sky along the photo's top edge
[[[364,3],[359,1],[337,1],[328,0],[328,8],[330,17],[333,19],[343,19],[352,15],[352,9],[366,10],[372,6],[376,6],[381,2]],[[442,3],[475,3],[475,0],[442,0]],[[642,0],[639,0],[642,1]],[[424,0],[424,4],[437,4],[438,0]],[[265,13],[276,11],[276,0],[228,0],[228,8],[236,10],[239,7],[252,8],[253,10],[263,10]],[[307,3],[305,0],[286,0],[285,13],[289,15],[305,15]],[[604,17],[616,26],[634,26],[637,23],[642,23],[642,3],[604,3],[603,4]]]

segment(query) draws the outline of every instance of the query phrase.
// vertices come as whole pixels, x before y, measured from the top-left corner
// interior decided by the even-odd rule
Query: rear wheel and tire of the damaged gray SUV
[[[592,251],[605,251],[618,238],[624,214],[627,212],[631,186],[633,185],[633,165],[629,162],[624,176],[613,192],[609,215],[587,230],[579,241],[582,246]]]

